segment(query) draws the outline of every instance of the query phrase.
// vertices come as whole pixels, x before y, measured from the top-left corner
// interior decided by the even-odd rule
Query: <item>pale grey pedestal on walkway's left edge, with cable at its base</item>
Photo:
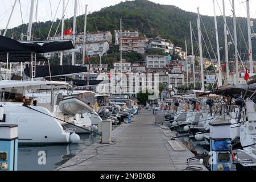
[[[98,124],[98,131],[102,133],[101,143],[112,142],[112,121],[107,119]]]

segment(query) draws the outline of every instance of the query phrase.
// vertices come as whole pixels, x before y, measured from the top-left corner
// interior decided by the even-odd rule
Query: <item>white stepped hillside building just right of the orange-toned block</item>
[[[172,55],[174,53],[174,44],[168,39],[155,38],[150,39],[146,43],[146,49],[162,49],[164,53]]]

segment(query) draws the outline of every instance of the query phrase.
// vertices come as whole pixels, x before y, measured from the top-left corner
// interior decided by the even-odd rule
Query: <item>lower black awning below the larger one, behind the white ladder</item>
[[[36,65],[36,75],[34,78],[50,77],[50,76],[63,76],[63,75],[72,75],[75,73],[84,73],[87,72],[86,67],[81,66],[71,66],[71,65],[62,65],[62,66],[50,66],[51,75],[49,74],[49,66]],[[25,74],[30,77],[31,67],[26,64],[26,69],[24,70]]]

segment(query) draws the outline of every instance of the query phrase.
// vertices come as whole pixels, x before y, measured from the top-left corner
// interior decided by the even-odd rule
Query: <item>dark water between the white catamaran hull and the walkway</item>
[[[100,140],[95,134],[80,135],[78,144],[64,144],[57,146],[19,146],[18,170],[19,171],[52,171],[61,166],[88,146]],[[38,152],[46,154],[46,165],[40,165]]]

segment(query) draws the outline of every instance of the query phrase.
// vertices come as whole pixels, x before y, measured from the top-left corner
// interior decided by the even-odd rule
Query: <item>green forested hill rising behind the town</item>
[[[201,7],[203,8],[203,7]],[[213,11],[212,3],[209,2],[209,10]],[[231,11],[229,12],[229,15]],[[135,0],[121,2],[118,5],[106,7],[100,11],[94,12],[88,15],[88,31],[111,31],[114,35],[114,30],[119,29],[120,18],[122,17],[123,29],[126,30],[138,30],[141,35],[146,35],[150,38],[155,36],[162,36],[163,38],[171,39],[175,46],[184,47],[184,39],[188,39],[190,42],[189,21],[192,22],[193,30],[197,38],[197,26],[196,18],[197,14],[183,11],[175,6],[160,5],[147,0]],[[204,39],[209,47],[209,42],[204,31],[204,26],[209,34],[209,39],[215,49],[215,34],[214,34],[214,19],[211,16],[201,16],[203,20],[201,23],[201,29],[203,31]],[[218,29],[220,36],[220,47],[224,47],[224,23],[222,16],[217,18]],[[53,26],[51,35],[55,34],[56,27],[60,20],[57,20]],[[227,18],[228,26],[233,34],[233,19]],[[247,26],[246,18],[237,18],[238,26],[238,49],[241,53],[244,53],[246,59],[246,44],[247,41]],[[65,28],[69,28],[72,25],[72,18],[65,20]],[[33,33],[38,39],[44,40],[49,28],[51,27],[51,21],[34,23]],[[20,33],[26,32],[27,24],[23,24],[19,27],[13,28],[8,31],[7,36],[13,34],[14,38],[19,39]],[[77,31],[82,32],[84,30],[84,16],[79,16],[77,19]],[[58,30],[60,32],[60,28]],[[243,36],[242,36],[243,35]],[[244,37],[244,38],[243,38]],[[114,39],[114,36],[113,36]],[[194,40],[195,41],[195,40]],[[229,42],[232,42],[229,36]],[[254,51],[256,50],[256,42],[253,40]],[[188,47],[190,50],[190,47]],[[209,48],[210,49],[210,48]],[[197,50],[195,42],[195,50]],[[229,47],[230,55],[233,55],[233,46]],[[204,56],[208,57],[206,46],[204,46]],[[224,57],[224,49],[221,51],[221,56]],[[254,57],[255,54],[254,54]],[[214,58],[212,54],[212,58]],[[243,56],[242,56],[243,58]]]

